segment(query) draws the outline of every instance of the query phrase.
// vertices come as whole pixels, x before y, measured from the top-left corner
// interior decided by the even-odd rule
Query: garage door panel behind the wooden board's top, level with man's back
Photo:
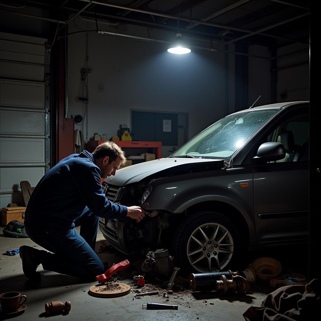
[[[0,192],[20,192],[23,180],[27,180],[32,187],[36,186],[44,174],[44,167],[1,167]]]

